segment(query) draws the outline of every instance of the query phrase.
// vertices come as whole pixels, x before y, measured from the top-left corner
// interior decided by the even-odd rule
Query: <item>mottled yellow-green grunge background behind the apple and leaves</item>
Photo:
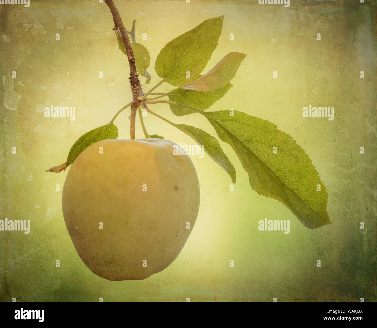
[[[61,189],[55,188],[63,188],[67,172],[45,170],[65,162],[79,136],[109,122],[131,100],[129,67],[118,49],[112,16],[106,4],[95,0],[0,5],[0,219],[31,221],[29,234],[0,231],[0,299],[376,301],[376,3],[291,0],[288,8],[257,0],[115,4],[127,29],[137,20],[136,42],[149,50],[151,82],[146,85],[141,78],[144,91],[160,80],[154,64],[167,42],[225,15],[218,47],[204,71],[231,51],[247,57],[233,87],[209,110],[232,108],[290,134],[326,186],[333,224],[308,229],[284,205],[258,195],[236,154],[221,142],[237,171],[234,191],[210,157],[192,156],[201,205],[177,259],[146,280],[111,282],[96,276],[81,261],[64,225]],[[170,89],[162,85],[158,92]],[[75,106],[75,120],[45,118],[43,109],[51,105]],[[333,106],[334,120],[304,118],[302,108],[309,105]],[[216,135],[198,114],[176,117],[162,104],[153,109]],[[120,138],[129,138],[128,117],[124,111],[116,120]],[[192,143],[152,115],[145,123],[148,131],[175,143]],[[143,137],[139,122],[136,137]],[[290,220],[290,233],[259,231],[258,221],[266,217]]]

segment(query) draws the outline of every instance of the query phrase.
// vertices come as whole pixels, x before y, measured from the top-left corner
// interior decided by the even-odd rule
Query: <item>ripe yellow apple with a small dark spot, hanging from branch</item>
[[[75,159],[63,216],[78,255],[97,276],[146,279],[183,248],[200,190],[190,157],[174,155],[175,147],[165,139],[106,139]]]

